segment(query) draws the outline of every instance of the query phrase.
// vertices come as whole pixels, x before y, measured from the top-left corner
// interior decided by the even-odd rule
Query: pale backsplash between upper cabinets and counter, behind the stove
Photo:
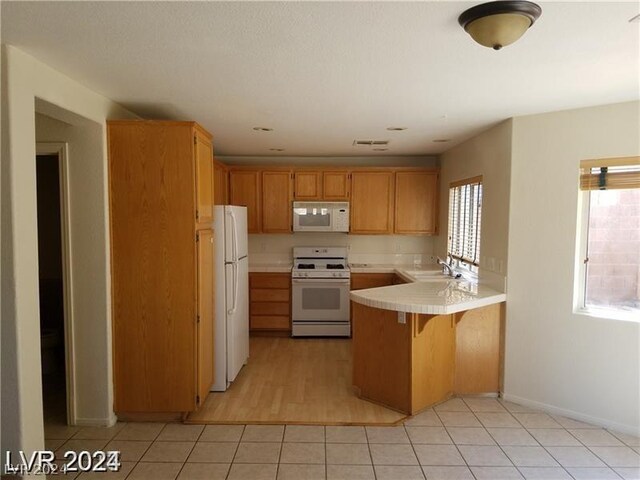
[[[251,263],[290,263],[293,247],[348,247],[351,263],[434,263],[433,237],[293,233],[249,235]]]

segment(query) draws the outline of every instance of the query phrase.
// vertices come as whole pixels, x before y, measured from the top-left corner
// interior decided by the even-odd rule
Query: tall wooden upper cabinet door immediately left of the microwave
[[[291,172],[262,172],[262,231],[291,232]]]

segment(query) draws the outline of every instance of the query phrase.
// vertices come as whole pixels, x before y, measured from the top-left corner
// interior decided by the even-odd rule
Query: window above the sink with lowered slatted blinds
[[[449,185],[449,244],[447,253],[458,265],[476,271],[480,263],[482,177]]]

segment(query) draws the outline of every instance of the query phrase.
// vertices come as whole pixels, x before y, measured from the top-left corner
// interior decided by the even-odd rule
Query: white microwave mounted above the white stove
[[[349,202],[293,202],[294,232],[349,232]]]

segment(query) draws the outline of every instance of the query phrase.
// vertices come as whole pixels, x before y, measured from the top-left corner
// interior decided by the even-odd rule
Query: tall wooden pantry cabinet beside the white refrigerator
[[[194,411],[213,383],[213,149],[194,122],[108,122],[114,410]]]

